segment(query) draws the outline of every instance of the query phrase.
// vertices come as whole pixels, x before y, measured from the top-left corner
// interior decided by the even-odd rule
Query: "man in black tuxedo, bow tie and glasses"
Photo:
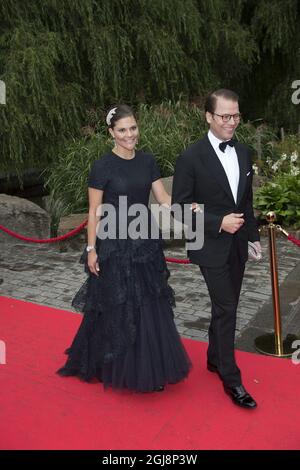
[[[211,93],[205,116],[208,134],[177,159],[172,204],[204,204],[204,244],[188,255],[199,265],[211,299],[207,368],[219,375],[233,403],[253,409],[256,402],[242,385],[234,355],[248,241],[261,251],[252,206],[251,152],[232,139],[241,117],[236,93]]]

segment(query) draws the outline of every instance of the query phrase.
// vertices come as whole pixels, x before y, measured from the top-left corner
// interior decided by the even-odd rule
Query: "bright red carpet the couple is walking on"
[[[299,449],[300,365],[237,352],[244,384],[258,402],[233,405],[205,369],[206,344],[186,340],[194,368],[162,393],[103,391],[62,378],[81,317],[0,297],[1,449]]]

